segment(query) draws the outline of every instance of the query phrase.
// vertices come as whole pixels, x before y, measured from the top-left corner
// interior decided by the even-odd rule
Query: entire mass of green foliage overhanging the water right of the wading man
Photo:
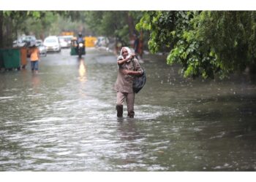
[[[185,77],[224,78],[254,66],[255,12],[144,12],[138,30],[150,31],[151,52],[168,49],[167,64]]]

